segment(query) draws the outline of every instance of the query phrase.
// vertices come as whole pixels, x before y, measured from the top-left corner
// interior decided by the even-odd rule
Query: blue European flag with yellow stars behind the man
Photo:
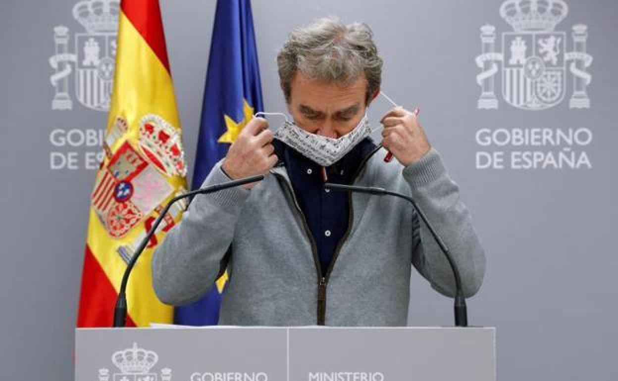
[[[249,0],[218,0],[201,109],[192,188],[204,179],[253,114],[263,111],[260,68]],[[213,325],[227,274],[199,301],[176,308],[175,322]]]

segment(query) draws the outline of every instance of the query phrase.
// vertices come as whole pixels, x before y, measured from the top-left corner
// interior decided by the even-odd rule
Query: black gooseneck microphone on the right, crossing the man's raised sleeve
[[[377,186],[356,186],[356,185],[342,185],[342,184],[333,184],[333,183],[326,183],[324,184],[324,186],[326,188],[331,188],[333,190],[338,190],[338,191],[350,191],[350,192],[366,193],[368,195],[378,195],[378,196],[395,196],[395,197],[405,199],[410,204],[412,204],[414,209],[416,209],[418,216],[421,217],[421,220],[423,220],[423,222],[425,222],[425,225],[427,225],[427,227],[429,228],[431,235],[433,236],[434,240],[436,240],[436,242],[438,243],[438,246],[440,246],[442,253],[444,253],[444,256],[446,256],[446,259],[447,261],[449,261],[449,265],[451,266],[451,269],[453,270],[453,275],[455,277],[455,290],[456,290],[455,291],[455,303],[454,303],[455,326],[456,327],[468,327],[468,312],[467,312],[467,307],[466,307],[465,298],[464,298],[464,291],[462,289],[462,280],[459,274],[459,269],[457,268],[457,265],[455,265],[455,261],[453,261],[453,258],[451,257],[451,252],[449,251],[449,248],[447,248],[444,241],[442,241],[442,238],[440,238],[438,233],[436,233],[436,230],[434,230],[433,226],[431,226],[430,222],[427,220],[427,217],[425,216],[425,213],[420,209],[420,207],[418,207],[414,199],[406,195],[402,195],[401,193],[389,191],[384,188],[378,188]]]

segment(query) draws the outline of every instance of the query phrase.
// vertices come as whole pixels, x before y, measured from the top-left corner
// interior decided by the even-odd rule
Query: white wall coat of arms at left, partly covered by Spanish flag
[[[56,89],[53,110],[73,109],[69,80],[75,71],[72,82],[77,100],[89,109],[109,111],[119,8],[120,0],[83,0],[75,4],[73,17],[85,33],[75,33],[74,53],[69,52],[69,28],[54,28],[56,54],[49,58],[49,65],[55,70],[49,78]]]

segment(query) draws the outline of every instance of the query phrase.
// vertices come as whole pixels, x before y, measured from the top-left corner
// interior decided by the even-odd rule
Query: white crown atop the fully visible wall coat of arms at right
[[[552,31],[569,13],[562,0],[507,0],[500,15],[514,31]]]

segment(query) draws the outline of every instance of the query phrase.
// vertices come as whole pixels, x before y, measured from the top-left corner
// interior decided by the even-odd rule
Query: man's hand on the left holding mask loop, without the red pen
[[[273,132],[269,130],[266,119],[253,118],[230,146],[221,168],[232,180],[265,175],[277,163],[277,155],[271,143]],[[243,186],[249,189],[255,184]]]

